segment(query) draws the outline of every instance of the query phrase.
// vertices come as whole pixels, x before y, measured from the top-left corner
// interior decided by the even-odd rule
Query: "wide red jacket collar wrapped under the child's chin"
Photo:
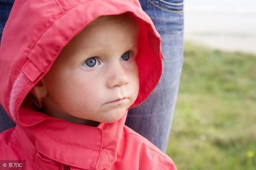
[[[31,112],[20,113],[20,119],[33,122]],[[36,117],[33,119],[39,119],[38,115],[41,115],[42,121],[27,127],[17,125],[17,132],[30,159],[36,164],[44,161],[41,156],[38,159],[35,156],[39,153],[51,160],[83,169],[103,169],[116,161],[127,111],[119,121],[100,123],[98,127],[76,125],[34,114]]]

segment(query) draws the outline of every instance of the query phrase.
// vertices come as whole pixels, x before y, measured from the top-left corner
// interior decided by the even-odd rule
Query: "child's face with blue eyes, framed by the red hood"
[[[136,52],[137,32],[126,23],[111,20],[86,27],[42,79],[45,112],[73,123],[79,123],[76,118],[119,120],[138,95]]]

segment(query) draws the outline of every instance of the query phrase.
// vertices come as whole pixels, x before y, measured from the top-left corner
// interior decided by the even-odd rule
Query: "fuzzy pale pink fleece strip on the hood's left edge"
[[[18,75],[17,79],[14,81],[12,86],[12,91],[10,95],[10,115],[12,116],[12,119],[17,121],[17,115],[16,115],[16,108],[18,104],[18,100],[22,97],[22,93],[24,93],[24,89],[26,88],[26,85],[30,83],[30,80],[26,75],[21,72],[20,75]]]

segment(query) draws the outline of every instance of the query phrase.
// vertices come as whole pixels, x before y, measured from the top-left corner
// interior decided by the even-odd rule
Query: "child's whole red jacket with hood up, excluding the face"
[[[160,36],[138,0],[16,0],[0,46],[0,104],[17,124],[0,134],[0,160],[26,160],[27,170],[175,170],[169,156],[126,127],[126,114],[98,127],[76,125],[24,104],[61,49],[102,15],[130,12],[140,24],[140,105],[162,74]],[[145,62],[146,61],[146,62]],[[130,108],[131,108],[130,107]]]

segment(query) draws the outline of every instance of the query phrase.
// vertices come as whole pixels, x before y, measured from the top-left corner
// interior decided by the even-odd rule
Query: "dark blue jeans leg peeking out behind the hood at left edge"
[[[12,9],[13,2],[14,0],[0,0],[0,43],[2,38],[2,32]],[[5,113],[4,109],[0,105],[0,132],[14,126],[15,123],[12,121],[12,119],[10,119],[10,117],[8,117],[8,115]]]

